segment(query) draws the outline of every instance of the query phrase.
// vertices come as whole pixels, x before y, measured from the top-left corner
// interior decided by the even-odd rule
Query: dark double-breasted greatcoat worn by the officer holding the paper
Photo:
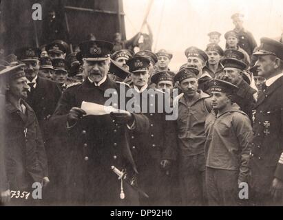
[[[117,124],[110,115],[86,115],[72,126],[67,127],[67,113],[72,107],[81,107],[83,101],[105,104],[109,97],[107,89],[120,97],[120,84],[107,76],[100,86],[95,86],[88,78],[76,89],[66,89],[59,101],[52,124],[60,133],[67,130],[72,148],[69,177],[67,180],[68,201],[86,205],[138,205],[136,190],[125,182],[121,183],[112,171],[112,166],[127,173],[127,178],[136,184],[136,165],[129,149],[128,128]],[[125,85],[123,85],[125,88]],[[109,90],[108,90],[109,91]],[[121,96],[125,96],[121,94]],[[126,99],[127,100],[127,99]],[[112,103],[113,107],[120,107]],[[147,118],[139,113],[134,115],[134,130],[148,129]],[[131,128],[133,129],[133,128]],[[123,189],[125,199],[120,199]]]

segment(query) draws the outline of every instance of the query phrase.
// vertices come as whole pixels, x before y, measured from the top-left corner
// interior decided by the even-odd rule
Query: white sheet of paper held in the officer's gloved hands
[[[87,115],[107,115],[112,111],[118,111],[118,109],[115,109],[112,106],[105,106],[102,104],[85,101],[81,103],[81,109],[83,109]]]

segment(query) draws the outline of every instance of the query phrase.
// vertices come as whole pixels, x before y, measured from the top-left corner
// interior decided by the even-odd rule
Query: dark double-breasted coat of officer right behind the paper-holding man
[[[143,134],[130,135],[131,151],[138,168],[138,186],[149,195],[140,197],[143,206],[168,206],[171,203],[172,179],[169,170],[161,167],[160,162],[168,159],[176,161],[176,132],[174,120],[169,120],[165,111],[170,107],[170,97],[165,100],[163,91],[147,89],[141,93],[134,90],[140,109],[149,119],[149,129]],[[161,106],[163,104],[163,107]],[[159,112],[158,112],[159,105]],[[168,111],[168,110],[167,110]]]

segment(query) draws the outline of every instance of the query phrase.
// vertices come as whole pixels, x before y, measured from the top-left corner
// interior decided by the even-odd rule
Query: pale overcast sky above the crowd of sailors
[[[149,1],[123,0],[127,39],[140,30]],[[223,48],[225,32],[234,28],[231,14],[235,12],[244,13],[244,28],[258,43],[262,36],[275,38],[282,32],[282,0],[154,0],[147,19],[154,32],[152,50],[172,52],[170,67],[176,70],[186,63],[187,47],[205,50],[211,31],[222,33]]]

